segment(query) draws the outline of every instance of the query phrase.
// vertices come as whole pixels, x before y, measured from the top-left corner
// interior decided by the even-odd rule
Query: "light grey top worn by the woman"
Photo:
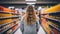
[[[36,25],[37,23],[37,25]],[[27,25],[23,20],[20,22],[20,29],[23,34],[37,34],[37,29],[39,29],[39,23],[36,22],[33,25]]]

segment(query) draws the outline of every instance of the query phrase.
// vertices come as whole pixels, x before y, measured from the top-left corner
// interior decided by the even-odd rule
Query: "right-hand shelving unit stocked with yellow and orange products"
[[[53,6],[49,9],[47,9],[45,11],[45,14],[42,14],[44,16],[42,16],[41,18],[42,19],[42,22],[44,21],[45,19],[45,23],[43,23],[42,25],[44,25],[44,29],[45,30],[50,30],[54,33],[54,34],[60,34],[60,4],[56,5],[56,6]],[[48,17],[45,17],[47,16]],[[47,23],[47,24],[46,24]],[[47,25],[48,26],[48,29],[47,29]],[[53,33],[50,33],[48,31],[46,31],[48,34],[53,34]]]

